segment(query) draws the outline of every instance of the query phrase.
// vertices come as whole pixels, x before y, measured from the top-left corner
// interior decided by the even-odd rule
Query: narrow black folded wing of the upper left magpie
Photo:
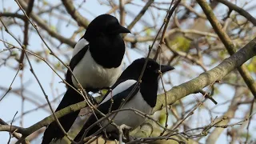
[[[86,54],[86,51],[89,49],[89,45],[86,45],[78,52],[78,54],[75,54],[74,57],[70,61],[70,69],[73,71],[74,67],[77,66],[78,62],[81,61],[83,56]],[[73,86],[72,82],[72,74],[70,73],[70,70],[67,70],[66,72],[66,82],[68,82],[70,85]]]

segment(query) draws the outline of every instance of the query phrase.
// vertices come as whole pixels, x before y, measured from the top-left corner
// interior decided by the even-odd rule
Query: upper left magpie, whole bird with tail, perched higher
[[[122,33],[130,33],[130,30],[121,26],[114,16],[102,14],[90,22],[86,33],[74,47],[70,69],[86,92],[112,86],[122,73],[122,59],[126,51]],[[69,70],[66,73],[66,82],[78,88],[78,82]],[[56,111],[83,100],[80,94],[68,87]],[[70,130],[79,111],[58,119],[64,130]],[[52,122],[46,128],[42,144],[62,137],[62,130],[56,122]]]

